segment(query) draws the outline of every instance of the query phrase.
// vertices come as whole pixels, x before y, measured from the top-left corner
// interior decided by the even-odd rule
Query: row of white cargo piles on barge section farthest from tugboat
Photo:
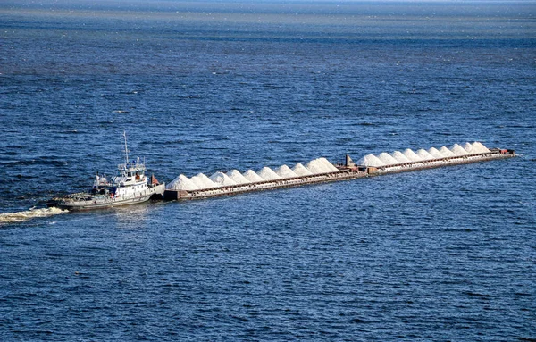
[[[440,149],[431,147],[428,151],[423,148],[420,148],[417,150],[416,153],[413,150],[407,148],[406,150],[404,150],[403,153],[400,151],[395,151],[390,154],[383,152],[381,154],[378,154],[377,156],[374,154],[367,154],[363,158],[361,158],[357,162],[357,164],[364,166],[381,167],[398,165],[403,163],[414,163],[414,165],[410,167],[419,167],[423,166],[423,163],[451,163],[449,160],[444,159],[448,157],[464,156],[468,154],[484,154],[489,152],[490,150],[486,146],[483,146],[482,143],[475,141],[473,142],[473,144],[465,143],[464,146],[459,146],[458,144],[455,144],[450,148],[447,148],[445,146],[440,147]]]

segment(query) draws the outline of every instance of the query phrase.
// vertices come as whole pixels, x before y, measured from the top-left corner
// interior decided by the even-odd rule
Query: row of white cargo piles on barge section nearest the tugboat
[[[306,166],[302,163],[297,163],[293,168],[289,168],[287,165],[282,165],[275,168],[275,171],[266,166],[257,172],[247,170],[244,173],[240,173],[238,170],[231,170],[227,173],[215,172],[210,177],[206,177],[204,173],[199,173],[191,179],[181,174],[176,179],[173,179],[166,188],[168,190],[202,190],[207,188],[247,185],[269,180],[292,179],[337,171],[339,171],[339,169],[326,158],[317,158],[307,163]]]

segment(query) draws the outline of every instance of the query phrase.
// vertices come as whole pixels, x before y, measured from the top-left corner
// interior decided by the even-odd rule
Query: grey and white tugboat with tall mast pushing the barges
[[[153,175],[150,180],[147,179],[145,163],[140,162],[139,158],[129,162],[126,132],[123,137],[126,163],[118,165],[117,175],[111,181],[97,173],[93,188],[89,192],[54,197],[47,205],[71,211],[90,210],[137,204],[146,202],[151,197],[162,197],[165,184],[160,184]]]

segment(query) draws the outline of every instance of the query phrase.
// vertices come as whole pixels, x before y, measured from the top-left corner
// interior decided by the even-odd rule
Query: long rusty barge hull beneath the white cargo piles
[[[335,165],[338,171],[284,179],[264,180],[247,184],[221,186],[217,188],[203,188],[196,190],[166,189],[163,195],[163,199],[184,201],[211,198],[217,196],[239,195],[254,191],[272,190],[279,188],[293,188],[339,180],[381,176],[384,174],[396,172],[418,171],[423,169],[438,168],[441,166],[459,165],[465,163],[479,163],[491,160],[511,158],[515,155],[516,154],[514,150],[495,148],[485,153],[456,155],[444,158],[423,160],[419,162],[396,163],[386,166],[373,167],[365,165],[356,165],[356,163],[354,163],[347,154],[345,163],[339,163]]]

